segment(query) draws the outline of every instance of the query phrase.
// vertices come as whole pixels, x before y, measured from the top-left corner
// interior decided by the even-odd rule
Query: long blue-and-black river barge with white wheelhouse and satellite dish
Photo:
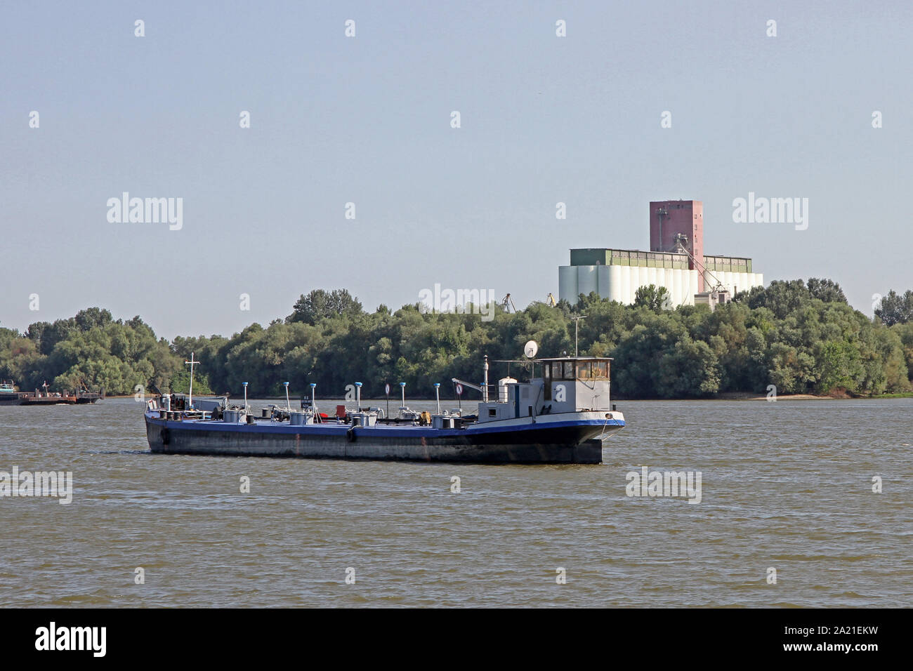
[[[453,381],[481,393],[476,414],[441,412],[439,401],[436,413],[418,413],[403,395],[399,414],[386,417],[382,408],[362,408],[361,383],[356,407],[338,406],[335,416],[319,412],[314,384],[300,410],[292,410],[286,383],[285,408],[260,414],[247,404],[247,383],[243,405],[163,394],[147,404],[146,436],[157,454],[600,464],[603,442],[624,427],[624,414],[610,404],[611,361],[530,360],[523,362],[532,364],[529,382],[504,377],[489,387],[485,357],[483,383]]]

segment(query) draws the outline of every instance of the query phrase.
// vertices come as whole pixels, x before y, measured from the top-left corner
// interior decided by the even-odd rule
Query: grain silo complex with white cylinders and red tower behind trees
[[[739,291],[763,286],[751,259],[704,254],[704,204],[696,200],[650,203],[650,251],[605,247],[572,249],[571,265],[558,267],[558,296],[576,303],[595,291],[603,299],[633,303],[646,285],[665,287],[670,307],[707,303],[711,309]]]

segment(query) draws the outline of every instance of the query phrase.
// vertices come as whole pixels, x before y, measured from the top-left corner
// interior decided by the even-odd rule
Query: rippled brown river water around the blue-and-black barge
[[[0,471],[73,478],[0,497],[0,606],[913,605],[913,399],[619,402],[601,466],[157,456],[142,408],[0,407]]]

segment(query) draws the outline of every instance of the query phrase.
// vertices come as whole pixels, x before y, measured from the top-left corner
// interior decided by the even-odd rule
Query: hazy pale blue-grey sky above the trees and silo
[[[675,198],[703,202],[705,253],[765,283],[832,278],[871,315],[913,288],[911,19],[833,0],[0,2],[0,326],[99,306],[227,336],[314,288],[523,307],[557,296],[572,247],[647,249],[649,202]],[[125,192],[180,198],[180,228],[110,221]],[[751,192],[807,198],[808,227],[734,221]]]

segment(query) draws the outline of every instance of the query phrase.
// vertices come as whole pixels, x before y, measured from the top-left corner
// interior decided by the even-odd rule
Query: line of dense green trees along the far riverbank
[[[278,396],[288,381],[293,394],[310,383],[317,394],[340,398],[362,382],[362,397],[383,396],[384,383],[406,383],[411,398],[434,398],[451,378],[479,381],[482,356],[515,360],[526,341],[540,356],[573,353],[572,317],[579,321],[581,354],[611,356],[619,398],[702,398],[724,392],[908,393],[913,389],[913,291],[891,291],[876,318],[848,305],[827,279],[775,280],[741,292],[711,311],[708,306],[667,309],[663,289],[641,288],[633,305],[581,295],[557,307],[533,302],[525,309],[477,313],[429,312],[421,304],[367,312],[345,289],[302,295],[285,319],[254,323],[230,338],[221,335],[157,339],[139,317],[114,320],[107,309],[80,310],[72,318],[37,322],[25,333],[0,328],[0,380],[28,390],[85,385],[107,393],[185,392],[191,352],[201,362],[194,393]],[[492,379],[504,374],[493,364]],[[523,366],[513,364],[520,377]],[[394,394],[397,392],[394,392]],[[446,395],[446,393],[445,393]]]

